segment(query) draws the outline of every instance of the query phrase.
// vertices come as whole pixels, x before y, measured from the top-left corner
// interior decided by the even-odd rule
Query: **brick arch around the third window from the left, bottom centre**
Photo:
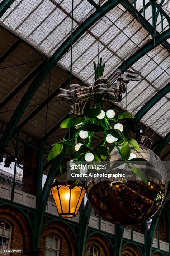
[[[85,256],[87,256],[87,250],[89,245],[98,248],[99,256],[113,256],[112,248],[104,235],[95,234],[88,239],[85,246]]]

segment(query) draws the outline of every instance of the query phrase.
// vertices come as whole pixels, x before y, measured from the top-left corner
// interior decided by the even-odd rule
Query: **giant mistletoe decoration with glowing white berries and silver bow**
[[[133,160],[132,158],[135,157],[131,154],[129,145],[139,149],[138,143],[133,138],[127,139],[125,137],[123,125],[119,123],[121,119],[134,118],[134,116],[124,112],[115,117],[115,112],[112,109],[104,112],[103,101],[121,101],[122,93],[126,91],[125,84],[129,83],[130,80],[141,80],[138,77],[140,73],[127,70],[125,74],[122,74],[121,70],[116,70],[108,78],[103,76],[104,67],[105,64],[102,65],[102,59],[100,59],[97,67],[94,62],[96,80],[94,85],[90,87],[71,84],[69,90],[60,88],[62,93],[58,97],[71,100],[71,113],[81,116],[70,117],[61,123],[61,128],[75,127],[77,132],[68,140],[62,138],[62,140],[53,144],[48,160],[62,154],[63,149],[65,149],[65,154],[71,156],[75,161],[109,160],[110,151],[114,147],[119,151],[123,161],[128,162],[129,159]],[[84,109],[88,102],[90,103],[90,108],[84,114]],[[91,147],[95,132],[103,132],[103,143],[99,146]],[[111,147],[105,146],[106,142],[111,144]],[[121,147],[119,144],[121,144]],[[62,171],[62,165],[63,163],[60,166],[60,171]],[[143,178],[140,169],[135,169],[135,172]]]

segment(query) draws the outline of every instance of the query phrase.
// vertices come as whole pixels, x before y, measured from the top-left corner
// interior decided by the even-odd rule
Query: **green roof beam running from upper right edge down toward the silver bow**
[[[143,45],[142,48],[137,50],[134,54],[132,54],[128,59],[126,59],[120,66],[122,72],[125,72],[126,69],[131,67],[138,59],[143,57],[145,54],[150,52],[150,50],[154,49],[156,46],[162,44],[166,39],[169,38],[170,35],[170,28],[167,29],[165,32],[162,32],[160,35],[152,38],[147,44]]]

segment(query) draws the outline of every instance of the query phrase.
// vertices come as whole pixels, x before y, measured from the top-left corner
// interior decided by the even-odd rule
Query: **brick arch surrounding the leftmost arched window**
[[[0,219],[6,220],[12,228],[11,249],[22,249],[23,253],[10,253],[10,256],[26,256],[30,254],[30,228],[23,214],[15,207],[0,207]],[[3,254],[0,254],[4,256]]]

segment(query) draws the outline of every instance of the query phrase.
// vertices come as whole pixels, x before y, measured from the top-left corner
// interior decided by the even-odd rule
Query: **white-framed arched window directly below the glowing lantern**
[[[47,234],[45,256],[59,256],[59,251],[60,239],[54,234]]]

